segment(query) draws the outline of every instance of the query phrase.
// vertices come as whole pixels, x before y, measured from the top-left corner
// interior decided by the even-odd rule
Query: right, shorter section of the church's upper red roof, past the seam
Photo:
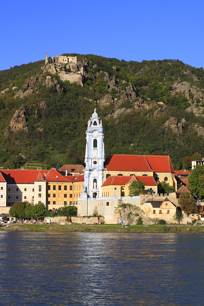
[[[154,172],[174,173],[169,155],[145,155],[145,158]]]

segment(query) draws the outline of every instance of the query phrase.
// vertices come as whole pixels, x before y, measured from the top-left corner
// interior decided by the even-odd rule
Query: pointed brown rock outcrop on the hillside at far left
[[[15,133],[17,131],[20,131],[21,129],[24,129],[25,132],[27,131],[27,127],[24,127],[24,125],[26,124],[25,112],[25,104],[22,104],[20,108],[15,111],[15,114],[13,115],[9,123],[12,132]]]

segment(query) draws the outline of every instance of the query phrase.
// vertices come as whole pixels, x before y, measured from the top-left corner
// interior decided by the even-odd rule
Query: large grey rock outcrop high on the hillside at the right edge
[[[175,82],[173,84],[173,87],[175,88],[174,92],[178,92],[181,94],[184,92],[185,97],[187,99],[191,99],[190,93],[192,93],[194,95],[194,101],[196,101],[197,99],[199,99],[200,101],[204,100],[204,91],[194,85],[191,85],[191,83],[188,83],[186,81],[182,83]]]

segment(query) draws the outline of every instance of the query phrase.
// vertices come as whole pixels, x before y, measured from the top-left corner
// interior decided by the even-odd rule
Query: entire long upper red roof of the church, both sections
[[[174,169],[167,155],[110,155],[104,163],[108,171],[171,172]]]

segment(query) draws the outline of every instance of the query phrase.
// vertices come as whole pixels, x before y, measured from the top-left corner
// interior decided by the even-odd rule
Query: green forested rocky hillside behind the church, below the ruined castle
[[[195,152],[204,155],[203,68],[179,60],[63,55],[77,56],[83,65],[83,87],[45,72],[44,61],[0,71],[0,166],[84,163],[95,105],[106,157],[170,155],[181,169],[190,166]]]

